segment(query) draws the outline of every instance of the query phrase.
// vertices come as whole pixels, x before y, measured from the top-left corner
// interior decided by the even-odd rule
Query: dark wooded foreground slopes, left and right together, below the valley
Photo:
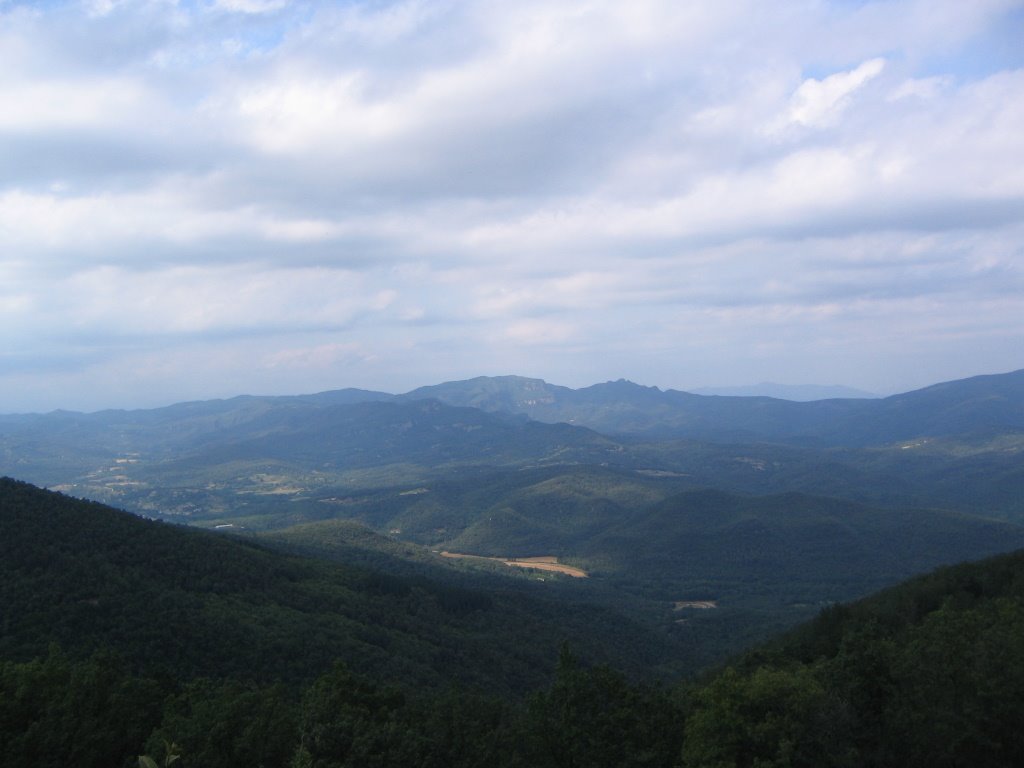
[[[658,687],[624,675],[622,659],[578,657],[579,635],[559,652],[529,634],[499,639],[512,631],[500,620],[486,643],[460,634],[481,630],[474,615],[543,610],[517,612],[521,597],[375,583],[11,480],[0,525],[0,764],[11,768],[127,767],[139,754],[182,768],[1013,766],[1024,750],[1020,552],[835,605]],[[317,600],[344,620],[332,625]],[[566,607],[544,623],[572,625]],[[399,639],[416,613],[427,653]],[[371,624],[380,663],[346,655]],[[515,674],[516,657],[538,663],[531,648],[549,672],[528,695],[481,685]],[[488,670],[496,651],[504,666]]]

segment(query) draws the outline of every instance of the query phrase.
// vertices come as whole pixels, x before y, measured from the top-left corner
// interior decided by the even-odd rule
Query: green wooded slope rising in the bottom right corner
[[[1024,553],[823,611],[700,689],[685,765],[1013,766]]]

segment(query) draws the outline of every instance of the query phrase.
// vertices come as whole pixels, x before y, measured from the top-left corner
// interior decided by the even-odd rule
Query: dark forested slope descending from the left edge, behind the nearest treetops
[[[594,607],[290,557],[0,480],[0,658],[110,646],[173,676],[382,679],[523,690],[560,642],[638,670],[667,640]],[[631,662],[630,659],[634,659]]]

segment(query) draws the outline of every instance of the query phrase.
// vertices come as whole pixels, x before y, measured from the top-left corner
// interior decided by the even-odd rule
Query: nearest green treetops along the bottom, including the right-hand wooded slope
[[[677,693],[563,646],[525,701],[343,664],[301,688],[158,682],[51,648],[0,664],[0,764],[1009,767],[1024,755],[1022,598],[1024,553],[945,568],[823,611]]]

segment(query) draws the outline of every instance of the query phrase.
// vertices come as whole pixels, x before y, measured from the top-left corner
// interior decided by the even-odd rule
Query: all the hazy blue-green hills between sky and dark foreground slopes
[[[552,591],[684,633],[700,664],[1024,546],[1022,451],[1024,371],[811,402],[481,377],[0,417],[0,473],[319,557],[557,558],[591,578]]]

